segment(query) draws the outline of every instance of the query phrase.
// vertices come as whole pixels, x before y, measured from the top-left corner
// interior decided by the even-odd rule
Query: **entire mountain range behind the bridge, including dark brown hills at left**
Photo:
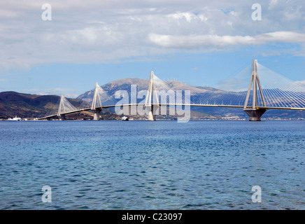
[[[218,90],[213,87],[190,86],[177,80],[164,81],[171,90],[190,90],[192,102],[197,102],[204,97],[217,96],[225,98],[232,102],[236,99],[236,93]],[[114,98],[115,92],[125,90],[130,92],[130,85],[136,85],[137,90],[147,90],[149,80],[141,78],[122,78],[113,80],[110,83],[102,85],[102,89],[108,97]],[[69,98],[69,102],[76,108],[90,107],[94,96],[94,90],[89,90],[80,94],[76,99]],[[22,118],[37,118],[50,114],[56,114],[60,97],[57,95],[38,95],[25,94],[18,92],[0,92],[0,119],[6,119],[13,116]],[[192,119],[220,119],[220,118],[248,118],[242,109],[232,108],[213,108],[213,107],[191,107]],[[139,118],[135,116],[136,118]],[[69,115],[69,118],[92,118],[92,113],[83,112],[75,115]],[[113,109],[103,109],[101,113],[102,119],[119,119],[120,117],[114,113]],[[169,118],[169,117],[164,117]],[[269,110],[264,114],[263,118],[305,118],[305,111],[282,111]]]

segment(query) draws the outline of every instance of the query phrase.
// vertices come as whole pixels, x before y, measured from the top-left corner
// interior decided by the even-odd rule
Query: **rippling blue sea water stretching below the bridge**
[[[0,209],[305,209],[304,121],[0,122]],[[52,202],[43,203],[43,186]],[[262,189],[254,203],[253,186]]]

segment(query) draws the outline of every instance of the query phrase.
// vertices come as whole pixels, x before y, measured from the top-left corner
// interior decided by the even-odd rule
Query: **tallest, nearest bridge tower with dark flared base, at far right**
[[[246,102],[243,106],[243,111],[245,111],[250,117],[250,121],[260,121],[260,117],[266,112],[266,109],[260,109],[260,106],[257,104],[257,90],[260,91],[260,97],[262,99],[263,106],[266,106],[266,102],[264,100],[264,93],[262,92],[262,85],[260,85],[260,76],[258,76],[257,72],[257,59],[253,59],[252,63],[252,75],[250,79],[250,85],[248,87],[248,93],[246,97]],[[249,97],[251,89],[253,91],[253,99],[252,106],[248,106]]]

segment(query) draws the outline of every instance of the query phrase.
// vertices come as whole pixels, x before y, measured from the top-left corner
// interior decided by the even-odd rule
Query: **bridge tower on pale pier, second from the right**
[[[159,110],[159,99],[157,97],[157,92],[155,91],[154,76],[154,72],[150,71],[150,81],[145,102],[146,108],[149,109],[148,120],[156,120],[154,111]]]

